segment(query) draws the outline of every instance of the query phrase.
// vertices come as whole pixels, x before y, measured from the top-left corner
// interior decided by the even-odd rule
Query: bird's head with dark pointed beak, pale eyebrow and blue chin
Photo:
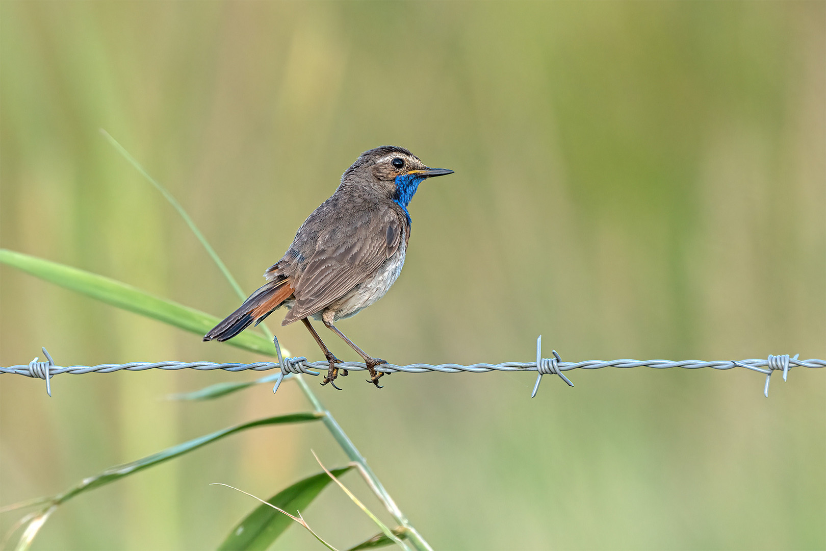
[[[453,170],[425,166],[418,157],[403,147],[382,145],[359,155],[356,162],[342,175],[341,183],[376,186],[406,212],[408,203],[425,178],[452,173]]]

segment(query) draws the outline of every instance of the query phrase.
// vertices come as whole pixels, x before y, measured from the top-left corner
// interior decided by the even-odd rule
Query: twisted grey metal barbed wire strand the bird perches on
[[[316,376],[320,371],[313,371],[314,369],[325,370],[330,367],[326,360],[319,360],[316,362],[308,361],[304,356],[296,356],[293,358],[283,358],[281,354],[281,346],[278,344],[278,339],[273,337],[276,352],[278,353],[278,362],[254,362],[254,363],[216,363],[216,362],[130,362],[130,363],[100,363],[98,365],[72,365],[63,367],[55,365],[54,360],[50,354],[43,349],[46,362],[38,361],[39,358],[31,360],[30,363],[23,365],[12,365],[4,368],[0,367],[0,373],[15,373],[17,375],[25,375],[31,378],[45,379],[46,392],[51,396],[50,380],[55,375],[60,373],[72,373],[73,375],[81,375],[83,373],[114,373],[116,371],[145,371],[147,369],[164,369],[168,371],[177,371],[178,369],[197,369],[199,371],[211,371],[214,369],[223,369],[224,371],[239,372],[239,371],[268,371],[278,368],[278,377],[275,380],[273,392],[278,391],[278,387],[284,378],[291,374],[305,373],[307,375]],[[786,381],[790,368],[826,368],[826,360],[823,359],[798,359],[799,354],[790,356],[789,354],[781,354],[775,356],[769,354],[767,359],[742,359],[742,360],[714,360],[704,362],[699,359],[686,359],[681,361],[672,361],[667,359],[614,359],[614,360],[600,360],[588,359],[582,362],[563,362],[557,354],[556,350],[552,350],[553,358],[542,357],[542,335],[536,340],[536,361],[534,362],[505,362],[505,363],[472,363],[470,365],[460,365],[458,363],[440,363],[434,365],[432,363],[409,363],[407,365],[396,365],[393,363],[382,363],[376,366],[376,370],[382,373],[488,373],[491,371],[502,371],[508,373],[520,372],[534,372],[537,373],[536,382],[534,383],[534,390],[530,397],[536,396],[539,390],[539,382],[542,381],[543,375],[558,375],[562,378],[568,386],[572,387],[573,383],[564,375],[563,372],[572,371],[574,369],[602,369],[602,368],[654,368],[654,369],[669,369],[669,368],[684,368],[684,369],[733,369],[746,368],[757,373],[766,375],[766,384],[763,387],[763,394],[769,396],[769,382],[771,381],[771,373],[775,371],[783,372],[783,380]],[[336,363],[339,368],[344,368],[348,371],[367,371],[368,368],[364,363],[359,362],[341,362]]]

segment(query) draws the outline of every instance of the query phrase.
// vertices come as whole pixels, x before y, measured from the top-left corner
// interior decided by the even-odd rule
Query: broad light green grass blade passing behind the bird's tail
[[[210,316],[189,306],[183,306],[178,302],[157,297],[127,283],[121,283],[115,279],[97,275],[97,273],[72,268],[65,264],[58,264],[29,254],[0,249],[0,262],[55,283],[60,287],[83,293],[112,306],[163,321],[183,330],[192,331],[197,335],[204,335],[221,321],[215,316]],[[264,338],[263,335],[249,331],[226,341],[226,344],[258,354],[275,355],[275,346],[270,340]]]

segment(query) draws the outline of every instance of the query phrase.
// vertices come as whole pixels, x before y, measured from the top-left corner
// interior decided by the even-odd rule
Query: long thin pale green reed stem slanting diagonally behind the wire
[[[221,259],[218,257],[218,254],[215,252],[215,249],[212,249],[211,245],[207,242],[207,238],[201,233],[201,230],[198,230],[195,222],[192,221],[192,218],[189,217],[186,211],[183,210],[183,207],[175,200],[171,193],[169,193],[160,183],[156,182],[154,178],[150,176],[149,173],[145,171],[145,169],[135,160],[134,157],[129,154],[124,147],[115,140],[112,135],[103,129],[101,129],[102,135],[106,137],[106,139],[112,144],[112,146],[118,150],[118,152],[129,161],[129,163],[140,172],[144,178],[150,181],[152,185],[161,192],[164,197],[166,197],[167,201],[169,201],[175,210],[178,211],[178,214],[183,217],[183,220],[189,226],[189,229],[192,230],[192,233],[195,234],[197,239],[201,241],[201,245],[204,246],[204,249],[207,249],[207,254],[210,255],[211,259],[218,268],[221,270],[221,273],[224,274],[224,277],[227,281],[230,282],[230,285],[235,289],[235,292],[238,293],[238,296],[243,300],[246,298],[244,291],[241,290],[240,285],[235,282],[235,278],[232,277],[230,270],[226,268],[225,264],[221,262]],[[263,328],[263,331],[267,333],[267,336],[272,335],[272,332],[268,330],[266,325],[260,324]],[[411,544],[413,547],[418,551],[433,551],[433,548],[430,547],[430,544],[419,534],[418,531],[415,530],[413,525],[411,525],[410,520],[407,520],[407,517],[401,512],[399,507],[396,505],[396,501],[393,501],[393,498],[387,493],[387,490],[382,485],[382,482],[379,481],[376,473],[373,473],[373,469],[371,469],[367,464],[367,459],[363,457],[362,454],[358,452],[353,442],[349,439],[349,436],[342,430],[341,426],[339,426],[338,422],[336,422],[333,414],[330,413],[319,401],[316,397],[316,394],[311,391],[309,385],[307,385],[304,378],[301,377],[301,374],[297,374],[295,379],[298,383],[298,387],[301,388],[301,392],[304,392],[304,395],[307,397],[307,400],[310,401],[313,408],[316,412],[323,414],[321,417],[321,421],[327,427],[327,430],[330,430],[330,434],[333,435],[333,438],[336,442],[338,442],[341,449],[344,450],[344,454],[347,454],[347,457],[350,461],[358,464],[359,471],[363,474],[363,477],[367,479],[368,486],[373,490],[373,493],[376,494],[378,499],[382,501],[384,506],[387,508],[387,511],[392,515],[392,517],[399,523],[399,525],[405,527],[407,530],[410,530],[408,533],[408,539],[410,539]]]

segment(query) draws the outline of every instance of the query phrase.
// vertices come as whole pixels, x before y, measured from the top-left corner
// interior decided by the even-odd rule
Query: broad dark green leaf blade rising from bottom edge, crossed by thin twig
[[[340,476],[351,468],[337,468],[333,473]],[[318,473],[283,489],[267,502],[291,515],[297,515],[298,511],[308,506],[330,482],[332,479],[327,473]],[[289,517],[261,504],[235,525],[218,549],[267,549],[291,524]]]

